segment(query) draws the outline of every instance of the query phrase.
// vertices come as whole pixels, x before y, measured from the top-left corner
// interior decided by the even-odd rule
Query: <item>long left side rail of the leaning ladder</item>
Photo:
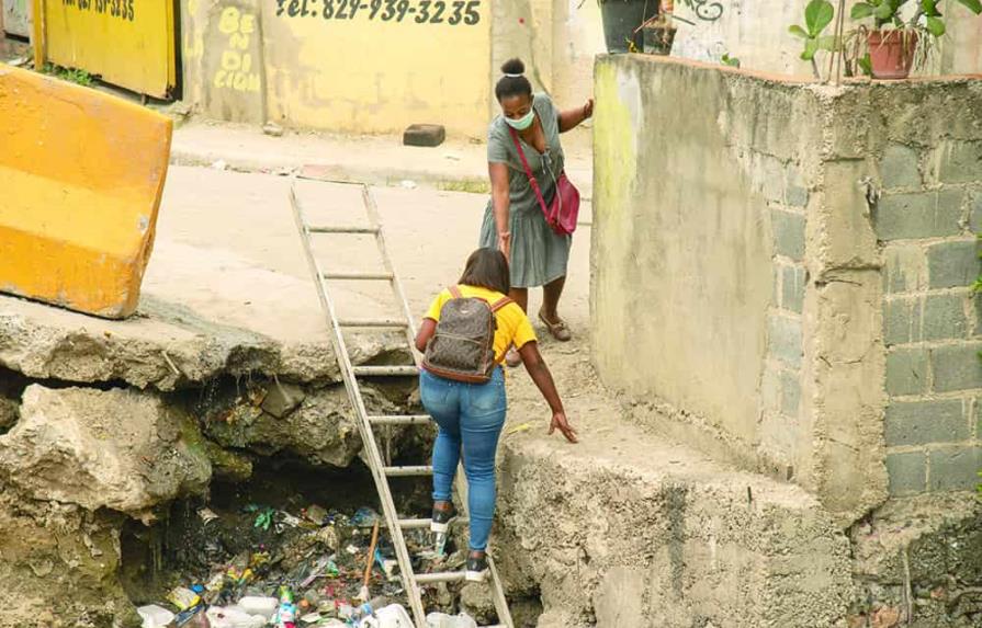
[[[332,344],[335,345],[337,359],[341,363],[341,376],[345,380],[345,388],[347,388],[348,390],[348,397],[351,399],[352,404],[354,406],[355,414],[358,415],[358,431],[361,434],[362,445],[364,446],[364,450],[369,458],[369,468],[372,471],[373,479],[375,480],[375,488],[379,491],[379,501],[382,502],[382,511],[385,516],[385,524],[388,527],[388,534],[393,539],[393,546],[396,550],[396,558],[399,562],[399,575],[403,580],[403,587],[406,590],[406,595],[409,597],[409,607],[413,610],[414,619],[416,620],[417,626],[421,628],[426,626],[426,613],[422,607],[422,597],[419,592],[419,586],[416,583],[416,574],[413,570],[413,562],[409,558],[409,551],[406,547],[405,537],[403,536],[403,528],[398,524],[399,517],[398,514],[395,512],[395,502],[392,499],[392,491],[388,487],[388,479],[385,477],[382,470],[384,464],[382,461],[381,453],[379,452],[379,446],[375,443],[372,426],[368,420],[369,414],[364,406],[364,399],[361,396],[361,389],[354,376],[354,369],[351,364],[351,358],[348,354],[348,346],[345,343],[345,335],[341,332],[340,326],[338,326],[337,310],[335,308],[334,301],[330,298],[329,288],[325,285],[321,278],[324,275],[320,273],[320,264],[317,262],[317,258],[314,254],[313,247],[311,246],[311,232],[307,228],[307,222],[304,219],[303,208],[301,207],[300,199],[296,196],[295,178],[291,182],[290,186],[290,204],[293,208],[296,226],[301,233],[301,239],[303,240],[304,252],[307,256],[307,263],[309,264],[311,272],[315,277],[317,296],[320,299],[321,307],[328,312],[330,317]]]

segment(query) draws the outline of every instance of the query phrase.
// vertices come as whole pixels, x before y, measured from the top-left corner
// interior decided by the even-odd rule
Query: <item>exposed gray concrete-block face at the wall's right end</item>
[[[982,467],[978,401],[982,392],[982,301],[974,232],[982,215],[982,89],[946,85],[877,89],[888,111],[926,115],[876,130],[882,196],[887,353],[887,468],[896,495],[972,490]],[[885,133],[883,133],[885,132]]]

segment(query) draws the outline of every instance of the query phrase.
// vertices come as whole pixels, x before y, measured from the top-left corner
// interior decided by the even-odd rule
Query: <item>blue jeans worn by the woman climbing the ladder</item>
[[[433,500],[450,501],[463,448],[471,549],[484,551],[495,516],[495,452],[508,406],[505,372],[496,368],[487,384],[464,384],[424,370],[419,393],[440,426],[433,446]]]

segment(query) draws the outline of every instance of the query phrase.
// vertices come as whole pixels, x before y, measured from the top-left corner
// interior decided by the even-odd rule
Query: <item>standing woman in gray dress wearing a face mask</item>
[[[550,203],[565,161],[560,134],[589,118],[594,101],[579,109],[560,111],[548,95],[532,93],[521,60],[511,59],[501,71],[505,76],[495,88],[501,115],[492,122],[487,134],[492,198],[484,214],[481,246],[505,252],[511,270],[509,296],[523,310],[528,311],[529,288],[543,286],[539,320],[553,338],[567,341],[569,329],[560,317],[558,304],[566,283],[572,238],[556,235],[545,222],[515,138],[521,144],[542,196]],[[506,361],[510,366],[521,362],[513,349]]]

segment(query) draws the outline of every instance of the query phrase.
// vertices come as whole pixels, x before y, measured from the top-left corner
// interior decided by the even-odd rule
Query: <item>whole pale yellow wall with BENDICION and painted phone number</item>
[[[399,20],[348,0],[188,0],[185,99],[207,116],[342,133],[439,123],[483,137],[490,100],[490,8],[452,3]],[[443,4],[442,2],[440,3]],[[386,18],[388,19],[386,20]]]

